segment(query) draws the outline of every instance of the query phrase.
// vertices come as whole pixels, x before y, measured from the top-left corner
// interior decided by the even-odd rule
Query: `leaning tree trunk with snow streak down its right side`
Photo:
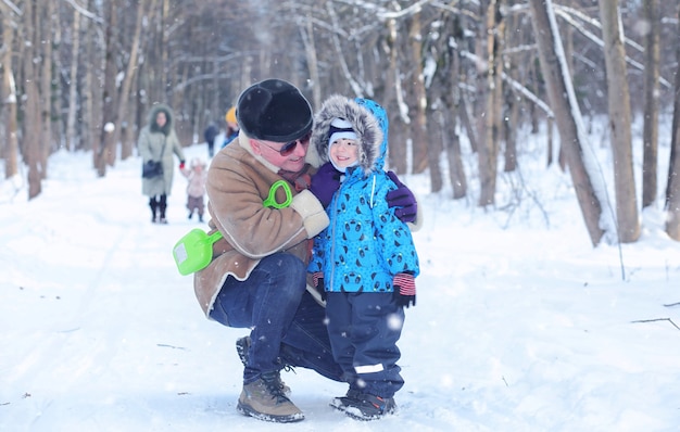
[[[553,3],[552,0],[529,0],[529,5],[541,69],[545,77],[550,104],[555,113],[562,148],[590,240],[593,245],[597,245],[605,233],[600,226],[600,219],[603,216],[602,203],[605,200],[604,196],[601,199],[597,195],[597,190],[604,190],[604,186],[595,189],[593,186],[595,174],[589,173],[584,163],[584,150],[588,143],[581,142],[585,134],[580,123],[580,110],[574,88],[570,86],[570,77],[565,75],[568,73],[568,67],[564,64],[564,49],[555,22]]]

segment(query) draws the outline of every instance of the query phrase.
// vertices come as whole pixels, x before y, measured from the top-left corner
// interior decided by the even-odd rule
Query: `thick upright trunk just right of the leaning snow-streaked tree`
[[[624,31],[619,27],[618,0],[600,0],[609,106],[609,137],[614,155],[614,185],[619,241],[630,243],[640,237],[638,200],[633,175],[630,131],[630,96],[626,73]]]

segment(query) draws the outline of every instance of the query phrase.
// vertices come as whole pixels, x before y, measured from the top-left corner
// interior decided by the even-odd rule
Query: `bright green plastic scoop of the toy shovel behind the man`
[[[207,236],[202,229],[194,228],[173,247],[177,269],[182,276],[202,270],[213,258],[213,244],[222,239],[222,232]]]

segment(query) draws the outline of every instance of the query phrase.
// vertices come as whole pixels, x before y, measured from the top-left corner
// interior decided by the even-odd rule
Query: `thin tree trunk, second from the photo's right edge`
[[[644,126],[642,130],[642,206],[656,200],[658,188],[658,84],[659,84],[659,20],[658,0],[644,0],[648,33],[644,37]]]

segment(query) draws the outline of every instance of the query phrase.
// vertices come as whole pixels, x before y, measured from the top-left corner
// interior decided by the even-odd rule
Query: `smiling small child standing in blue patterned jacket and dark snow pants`
[[[411,231],[386,200],[396,189],[383,170],[387,131],[385,110],[374,101],[332,96],[312,134],[319,157],[332,164],[341,183],[307,271],[324,291],[332,354],[350,384],[331,406],[361,420],[396,409],[393,396],[404,384],[396,341],[404,307],[415,305],[419,274]],[[312,177],[312,187],[325,178]]]

